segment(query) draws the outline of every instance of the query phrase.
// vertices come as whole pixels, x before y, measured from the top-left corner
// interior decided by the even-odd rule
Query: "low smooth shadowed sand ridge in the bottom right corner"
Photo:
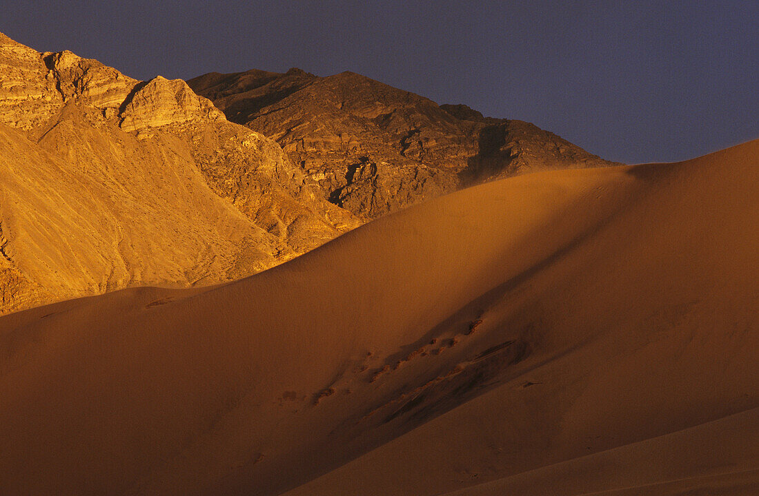
[[[757,494],[757,430],[754,408],[452,494]]]

